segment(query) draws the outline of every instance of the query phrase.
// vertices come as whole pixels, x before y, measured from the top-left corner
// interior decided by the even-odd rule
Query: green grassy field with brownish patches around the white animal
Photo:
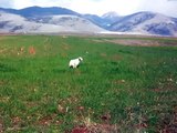
[[[129,38],[1,35],[0,132],[177,130],[177,40],[136,38],[166,44],[137,47],[118,39]],[[77,57],[81,66],[69,69]]]

